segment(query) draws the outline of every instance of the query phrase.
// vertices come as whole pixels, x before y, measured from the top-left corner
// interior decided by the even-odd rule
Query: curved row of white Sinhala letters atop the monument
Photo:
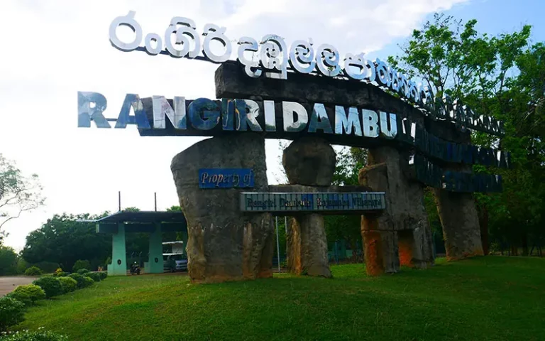
[[[148,33],[143,36],[142,27],[136,21],[135,15],[135,11],[129,11],[126,16],[119,16],[111,22],[109,38],[115,48],[125,52],[141,50],[149,55],[167,53],[174,58],[199,58],[212,63],[224,63],[231,57],[233,46],[226,36],[225,27],[207,23],[202,34],[199,34],[192,19],[175,16],[170,20],[165,33]],[[131,41],[119,38],[119,26],[131,28]],[[220,53],[211,48],[212,40],[223,46]],[[285,80],[289,64],[292,72],[319,72],[326,77],[347,77],[349,80],[368,82],[400,94],[402,99],[414,104],[431,119],[452,121],[461,130],[470,128],[499,136],[505,134],[502,121],[479,116],[461,101],[453,100],[448,95],[435,97],[429,87],[409,80],[406,75],[378,58],[367,60],[363,53],[348,53],[341,60],[341,55],[333,45],[321,44],[314,49],[312,40],[295,40],[288,48],[283,38],[268,34],[259,43],[258,40],[246,36],[238,39],[237,60],[249,77],[264,76]]]

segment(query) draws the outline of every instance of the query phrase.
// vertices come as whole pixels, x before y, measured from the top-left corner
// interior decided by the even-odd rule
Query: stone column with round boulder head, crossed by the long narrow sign
[[[282,164],[290,184],[329,186],[333,180],[336,156],[323,139],[304,137],[288,146]],[[316,213],[292,214],[287,235],[287,267],[294,274],[331,277],[327,259],[324,216]]]

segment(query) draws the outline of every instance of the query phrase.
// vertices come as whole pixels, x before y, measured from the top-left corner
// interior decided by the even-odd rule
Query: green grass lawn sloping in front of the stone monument
[[[370,278],[275,274],[193,285],[187,276],[109,277],[42,301],[18,329],[70,340],[545,340],[545,259],[487,256]]]

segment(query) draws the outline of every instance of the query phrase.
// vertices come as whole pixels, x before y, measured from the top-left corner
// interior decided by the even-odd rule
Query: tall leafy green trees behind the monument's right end
[[[475,193],[475,200],[485,249],[490,233],[515,254],[518,246],[527,253],[529,235],[540,240],[545,217],[544,45],[529,45],[530,26],[488,36],[475,31],[476,23],[436,13],[400,46],[401,55],[388,60],[439,97],[448,94],[478,115],[505,121],[503,137],[472,133],[473,144],[512,155],[511,169],[473,167],[475,173],[502,175],[504,187],[503,193]]]

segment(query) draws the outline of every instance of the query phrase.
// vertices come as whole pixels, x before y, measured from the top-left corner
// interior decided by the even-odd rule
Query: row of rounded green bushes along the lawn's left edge
[[[64,274],[62,270],[60,270],[55,272],[55,274],[41,276],[33,281],[32,284],[18,286],[14,291],[0,298],[0,332],[5,332],[11,325],[21,323],[23,321],[25,308],[35,304],[36,301],[43,298],[59,296],[62,295],[62,293],[70,293],[76,289],[87,288],[88,286],[92,286],[94,282],[99,282],[108,276],[105,271],[99,273],[87,271],[87,273],[84,272],[83,275],[70,274],[67,276],[60,276],[61,273]],[[34,335],[33,337],[35,337],[35,340],[42,340],[36,338],[38,336]],[[8,336],[0,336],[0,341],[20,340],[5,337]],[[13,335],[10,337],[13,337]]]

